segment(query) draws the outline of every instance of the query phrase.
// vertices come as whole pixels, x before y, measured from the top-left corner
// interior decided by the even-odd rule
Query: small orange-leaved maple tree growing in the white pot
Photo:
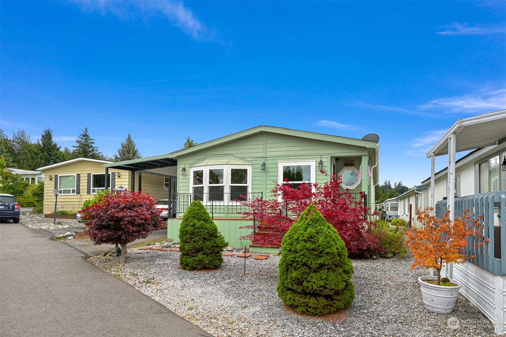
[[[406,247],[411,250],[414,257],[414,263],[411,269],[416,266],[421,268],[433,268],[437,271],[440,285],[441,269],[443,263],[465,263],[466,258],[474,256],[466,255],[464,247],[470,244],[468,237],[477,237],[479,243],[475,246],[483,248],[483,242],[488,242],[481,233],[483,226],[476,219],[471,220],[469,209],[465,210],[460,217],[450,219],[450,211],[447,210],[443,217],[439,219],[431,215],[433,207],[426,207],[424,210],[416,211],[416,219],[423,225],[423,229],[413,228],[406,232]],[[480,216],[481,218],[481,216]],[[471,221],[470,221],[471,220]]]

